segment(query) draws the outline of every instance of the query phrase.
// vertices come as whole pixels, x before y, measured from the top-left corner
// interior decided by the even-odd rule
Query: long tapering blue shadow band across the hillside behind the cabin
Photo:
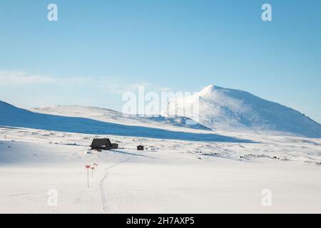
[[[8,113],[9,114],[9,113]],[[88,118],[66,117],[33,113],[21,110],[19,115],[2,115],[0,125],[17,128],[34,128],[41,130],[54,130],[68,133],[83,133],[91,135],[119,135],[128,137],[156,138],[164,140],[187,140],[203,142],[253,142],[214,133],[185,133],[159,128],[121,125],[107,123]]]

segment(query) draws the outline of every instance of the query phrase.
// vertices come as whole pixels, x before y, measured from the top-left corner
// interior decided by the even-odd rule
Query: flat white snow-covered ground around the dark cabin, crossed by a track
[[[95,135],[1,127],[0,212],[321,212],[320,139],[210,134],[249,142],[100,135],[120,149],[88,154]],[[85,165],[93,162],[88,188]],[[51,189],[56,207],[47,203]],[[270,207],[263,189],[272,192]]]

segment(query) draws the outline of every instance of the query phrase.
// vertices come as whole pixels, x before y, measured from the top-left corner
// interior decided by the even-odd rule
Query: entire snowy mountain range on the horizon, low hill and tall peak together
[[[198,104],[197,119],[195,113],[190,113],[190,107],[195,104]],[[122,134],[130,132],[131,135],[138,135],[138,128],[148,135],[149,128],[180,131],[183,127],[321,138],[321,125],[297,110],[243,90],[212,85],[188,97],[170,100],[168,109],[161,114],[129,116],[106,108],[76,105],[24,110],[0,101],[0,125],[13,127],[72,130],[78,133],[119,133],[121,130]],[[195,124],[188,124],[193,120]]]

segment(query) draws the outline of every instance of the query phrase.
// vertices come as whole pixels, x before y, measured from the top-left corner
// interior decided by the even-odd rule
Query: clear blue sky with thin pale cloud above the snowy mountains
[[[58,21],[47,6],[58,6]],[[272,5],[272,21],[261,6]],[[121,93],[213,83],[321,123],[321,1],[0,3],[0,100],[121,110]]]

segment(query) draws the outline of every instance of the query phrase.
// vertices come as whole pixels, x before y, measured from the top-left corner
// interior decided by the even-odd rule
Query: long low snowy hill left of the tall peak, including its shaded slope
[[[188,118],[183,118],[188,120]],[[218,135],[197,134],[180,119],[146,118],[123,115],[114,110],[58,105],[25,110],[0,100],[0,126],[34,128],[68,133],[123,135],[146,138],[181,138],[185,140],[216,140]],[[210,131],[194,125],[197,132]],[[192,133],[193,132],[193,133]],[[223,137],[224,138],[224,137]],[[232,140],[226,138],[226,140]]]

